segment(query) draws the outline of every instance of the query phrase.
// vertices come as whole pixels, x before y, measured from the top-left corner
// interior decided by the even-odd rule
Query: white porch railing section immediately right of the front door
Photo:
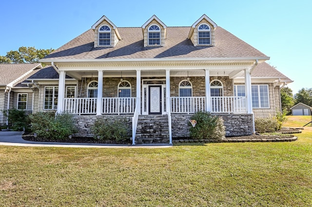
[[[206,97],[171,97],[171,113],[205,111]]]

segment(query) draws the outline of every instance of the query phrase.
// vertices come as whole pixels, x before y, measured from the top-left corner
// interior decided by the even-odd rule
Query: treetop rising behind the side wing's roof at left
[[[0,63],[38,63],[39,59],[53,52],[54,49],[36,49],[35,47],[20,47],[18,51],[7,52],[0,56]]]

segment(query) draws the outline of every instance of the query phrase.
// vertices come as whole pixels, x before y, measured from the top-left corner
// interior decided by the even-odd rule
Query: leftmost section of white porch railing
[[[97,98],[64,98],[64,111],[72,114],[96,114]]]

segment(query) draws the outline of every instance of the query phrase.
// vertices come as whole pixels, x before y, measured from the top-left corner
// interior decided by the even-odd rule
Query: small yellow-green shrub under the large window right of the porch
[[[256,117],[254,128],[258,133],[276,132],[279,129],[279,123],[276,117]]]

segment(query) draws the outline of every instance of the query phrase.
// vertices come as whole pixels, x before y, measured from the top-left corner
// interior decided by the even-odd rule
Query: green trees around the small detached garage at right
[[[312,106],[312,88],[302,88],[298,93],[292,95],[292,89],[283,87],[281,89],[282,111],[288,113],[288,110],[295,104],[306,104]]]

